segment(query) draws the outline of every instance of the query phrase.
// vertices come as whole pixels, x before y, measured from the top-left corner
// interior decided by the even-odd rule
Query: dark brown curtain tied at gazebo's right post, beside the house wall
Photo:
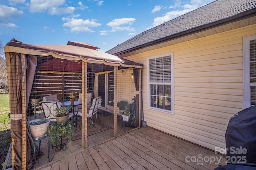
[[[136,91],[139,91],[139,85],[140,85],[140,72],[139,69],[134,69],[133,70],[133,78],[134,78],[134,84]],[[134,126],[138,127],[139,126],[139,94],[136,94],[136,115],[135,115],[135,122]]]

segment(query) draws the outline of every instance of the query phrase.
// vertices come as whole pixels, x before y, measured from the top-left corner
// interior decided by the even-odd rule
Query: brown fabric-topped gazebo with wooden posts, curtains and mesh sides
[[[88,126],[86,116],[84,116],[87,111],[86,93],[88,91],[92,92],[93,96],[102,96],[104,98],[102,109],[113,114],[114,138],[120,135],[117,133],[116,121],[117,102],[120,100],[129,98],[128,102],[130,102],[130,98],[136,96],[137,109],[134,127],[140,127],[140,81],[143,65],[97,49],[98,47],[77,41],[68,41],[67,45],[30,45],[12,39],[6,44],[4,52],[10,93],[13,168],[30,169],[33,165],[31,150],[33,150],[34,141],[30,136],[27,120],[31,114],[29,110],[32,92],[40,91],[42,96],[47,96],[52,91],[62,98],[80,88],[82,91],[81,143],[83,149],[88,147],[88,131],[84,128]],[[134,85],[127,85],[131,79],[122,82],[124,77],[120,75],[132,76]],[[78,93],[76,96],[78,97]]]

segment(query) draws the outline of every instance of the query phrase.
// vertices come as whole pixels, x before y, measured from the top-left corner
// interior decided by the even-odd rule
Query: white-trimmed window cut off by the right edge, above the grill
[[[244,109],[256,104],[256,35],[243,38]]]

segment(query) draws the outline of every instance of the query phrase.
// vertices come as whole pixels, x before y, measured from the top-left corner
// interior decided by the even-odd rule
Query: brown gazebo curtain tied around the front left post
[[[10,84],[10,113],[11,113],[11,137],[13,139],[14,169],[22,169],[22,61],[21,54],[10,53],[10,70],[8,70]],[[28,107],[29,96],[32,89],[36,69],[36,56],[26,56],[26,108]],[[19,115],[18,115],[19,114]],[[26,113],[24,113],[26,114]],[[15,116],[17,115],[17,116]],[[27,144],[26,144],[26,168],[33,166],[31,151],[34,150],[34,141],[30,136],[30,129],[27,123]]]

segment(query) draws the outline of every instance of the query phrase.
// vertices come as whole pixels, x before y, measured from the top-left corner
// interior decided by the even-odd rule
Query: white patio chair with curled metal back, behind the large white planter
[[[50,119],[51,121],[56,121],[56,117],[55,117],[56,111],[55,111],[55,109],[57,107],[61,106],[60,105],[61,102],[52,102],[52,101],[44,101],[44,100],[42,100],[41,104],[42,104],[42,107],[44,109],[45,117]],[[68,118],[70,119],[73,116],[74,116],[74,114],[70,113]]]

